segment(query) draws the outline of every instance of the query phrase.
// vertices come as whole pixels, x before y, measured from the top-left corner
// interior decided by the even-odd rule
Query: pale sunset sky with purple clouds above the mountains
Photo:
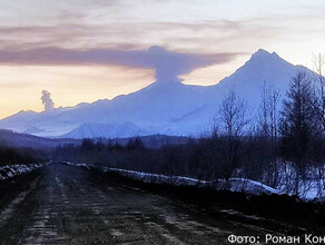
[[[175,77],[215,85],[259,48],[313,68],[324,12],[324,0],[3,0],[0,118],[42,111],[43,91],[67,107]]]

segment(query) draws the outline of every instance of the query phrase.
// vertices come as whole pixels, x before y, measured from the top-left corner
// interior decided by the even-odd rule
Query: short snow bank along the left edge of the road
[[[16,164],[16,165],[1,166],[0,167],[0,180],[4,180],[8,178],[16,177],[18,175],[30,173],[30,171],[36,170],[38,168],[45,167],[49,164],[51,164],[51,161],[45,163],[45,164],[30,164],[30,165]]]

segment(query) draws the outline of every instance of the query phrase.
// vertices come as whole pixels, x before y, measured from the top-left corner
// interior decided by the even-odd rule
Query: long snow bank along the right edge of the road
[[[95,165],[66,163],[70,166],[85,167],[88,169],[97,169],[101,171],[118,173],[122,176],[137,179],[145,183],[155,184],[170,184],[170,185],[184,185],[184,186],[209,186],[218,190],[230,190],[236,193],[247,193],[253,195],[262,194],[277,194],[294,196],[295,193],[295,171],[290,164],[285,164],[279,170],[279,183],[277,188],[272,188],[263,183],[255,182],[247,178],[230,178],[228,180],[217,179],[216,182],[206,182],[196,178],[188,178],[184,176],[166,176],[158,174],[150,174],[144,171],[127,170],[121,168],[98,167]],[[325,169],[324,169],[325,170]],[[302,200],[318,200],[325,202],[325,182],[314,176],[315,169],[307,171],[307,179],[299,180],[299,198]]]

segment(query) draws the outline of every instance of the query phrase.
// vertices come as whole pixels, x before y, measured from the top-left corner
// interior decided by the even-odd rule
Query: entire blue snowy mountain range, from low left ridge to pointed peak
[[[298,70],[312,72],[283,60],[275,52],[258,50],[235,74],[215,86],[159,80],[111,100],[43,112],[20,111],[0,120],[0,128],[30,131],[45,137],[198,136],[208,130],[221,98],[230,89],[235,89],[248,105],[257,107],[265,82],[284,95],[290,78]],[[134,127],[127,127],[128,124]]]

